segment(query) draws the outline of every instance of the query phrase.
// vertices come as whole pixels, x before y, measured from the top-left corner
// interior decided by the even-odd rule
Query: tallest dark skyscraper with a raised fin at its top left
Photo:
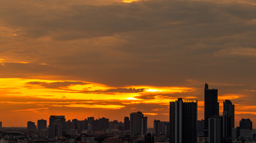
[[[209,118],[219,116],[218,89],[209,89],[207,83],[204,86],[204,129],[206,135],[209,128]]]

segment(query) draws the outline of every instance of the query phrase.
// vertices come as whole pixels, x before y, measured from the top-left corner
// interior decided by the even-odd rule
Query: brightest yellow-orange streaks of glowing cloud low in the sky
[[[65,107],[84,107],[84,108],[123,108],[124,105],[103,105],[94,101],[123,101],[124,104],[132,103],[159,103],[168,104],[170,99],[155,96],[147,100],[141,100],[144,94],[175,94],[191,92],[193,88],[182,87],[153,87],[153,86],[129,86],[122,88],[113,88],[100,83],[73,81],[73,80],[42,80],[42,79],[0,79],[0,96],[4,97],[33,97],[47,99],[65,99],[65,100],[91,100],[91,103],[76,104],[74,102],[65,102],[67,104],[55,105]],[[135,102],[134,102],[135,101]],[[28,102],[2,101],[12,104],[26,104]]]

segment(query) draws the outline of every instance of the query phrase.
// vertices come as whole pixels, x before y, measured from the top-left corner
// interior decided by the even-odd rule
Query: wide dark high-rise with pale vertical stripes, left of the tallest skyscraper
[[[170,102],[170,142],[197,142],[197,100]]]

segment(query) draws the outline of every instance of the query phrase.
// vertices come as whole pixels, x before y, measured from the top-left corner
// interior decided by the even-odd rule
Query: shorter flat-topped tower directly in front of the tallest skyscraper
[[[221,143],[221,119],[218,116],[208,119],[209,143]]]

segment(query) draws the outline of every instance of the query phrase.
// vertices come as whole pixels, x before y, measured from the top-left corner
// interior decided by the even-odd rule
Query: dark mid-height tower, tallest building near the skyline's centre
[[[141,133],[143,133],[143,124],[145,125],[145,121],[143,122],[142,124],[142,120],[146,120],[146,119],[143,119],[143,114],[138,111],[137,113],[131,113],[130,114],[130,119],[131,119],[131,127],[130,127],[130,132],[131,132],[131,135],[141,135]],[[144,128],[146,128],[144,126]]]

